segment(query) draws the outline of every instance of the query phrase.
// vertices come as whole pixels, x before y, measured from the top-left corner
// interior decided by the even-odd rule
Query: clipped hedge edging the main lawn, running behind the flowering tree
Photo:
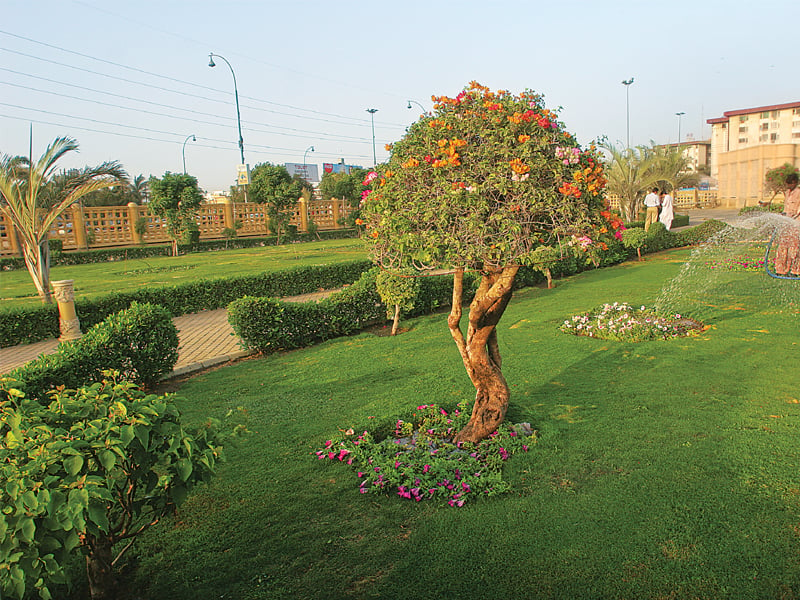
[[[662,224],[648,231],[646,251],[696,244],[724,229],[721,221],[705,223],[680,232],[667,231]],[[599,266],[627,260],[632,250],[621,242],[609,245]],[[592,268],[585,258],[568,256],[551,267],[553,276],[566,276]],[[386,306],[376,289],[377,269],[364,273],[352,286],[319,303],[291,304],[275,298],[247,296],[228,305],[228,321],[244,346],[263,353],[290,350],[349,335],[370,325],[386,322]],[[514,280],[515,288],[536,285],[544,276],[530,267],[522,267]],[[468,301],[479,283],[475,273],[465,273],[464,300]],[[428,314],[449,306],[453,294],[453,276],[422,277],[414,308],[405,316]]]

